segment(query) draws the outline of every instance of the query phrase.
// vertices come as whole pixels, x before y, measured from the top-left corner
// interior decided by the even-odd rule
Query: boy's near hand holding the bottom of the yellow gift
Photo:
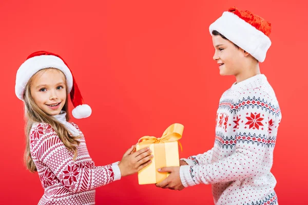
[[[172,189],[172,190],[183,190],[184,186],[182,185],[180,178],[180,167],[163,167],[158,170],[159,172],[170,172],[169,176],[160,183],[156,184],[156,187],[163,189]]]

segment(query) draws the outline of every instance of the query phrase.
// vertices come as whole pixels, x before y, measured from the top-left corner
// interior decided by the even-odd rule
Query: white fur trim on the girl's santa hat
[[[69,92],[71,91],[73,86],[73,77],[69,68],[65,65],[63,60],[54,55],[40,55],[27,59],[17,70],[15,94],[19,99],[24,99],[25,87],[29,79],[37,71],[45,68],[56,68],[61,70],[66,76],[68,90]]]

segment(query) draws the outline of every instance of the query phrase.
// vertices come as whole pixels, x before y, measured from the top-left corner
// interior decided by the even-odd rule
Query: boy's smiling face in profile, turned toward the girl
[[[220,75],[238,75],[243,69],[243,49],[220,35],[213,35],[212,39],[215,48],[213,59],[217,61]]]

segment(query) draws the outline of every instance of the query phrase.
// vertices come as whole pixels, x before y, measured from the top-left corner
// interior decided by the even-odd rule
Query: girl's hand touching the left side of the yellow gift
[[[151,163],[151,150],[143,148],[135,151],[136,147],[133,145],[123,155],[122,160],[119,162],[121,176],[127,176],[139,172],[144,167]]]

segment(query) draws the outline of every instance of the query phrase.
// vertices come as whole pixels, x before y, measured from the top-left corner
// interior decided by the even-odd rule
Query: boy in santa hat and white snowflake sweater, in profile
[[[209,27],[221,75],[236,83],[220,99],[214,147],[180,161],[157,186],[178,189],[211,184],[215,204],[278,204],[271,173],[281,112],[275,92],[260,74],[271,46],[271,24],[230,8]]]

